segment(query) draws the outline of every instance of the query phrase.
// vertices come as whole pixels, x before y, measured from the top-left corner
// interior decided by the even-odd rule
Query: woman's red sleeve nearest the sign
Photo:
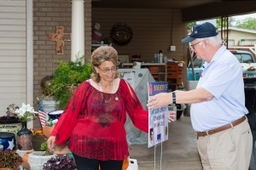
[[[125,81],[125,80],[124,80]],[[125,81],[125,110],[131,118],[133,125],[145,133],[148,133],[148,111],[143,109],[143,105],[137,99],[137,94],[131,88],[130,84]]]

